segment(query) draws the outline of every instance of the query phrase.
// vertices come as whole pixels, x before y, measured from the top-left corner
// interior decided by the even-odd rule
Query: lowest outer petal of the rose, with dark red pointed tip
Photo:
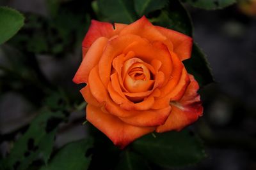
[[[154,127],[136,127],[125,124],[117,117],[104,113],[100,108],[91,104],[88,104],[86,108],[86,119],[120,148],[124,148],[135,139],[153,132],[155,129]]]

